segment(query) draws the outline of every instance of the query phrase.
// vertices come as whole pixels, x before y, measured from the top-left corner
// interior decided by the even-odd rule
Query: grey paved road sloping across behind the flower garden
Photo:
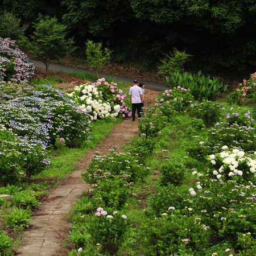
[[[46,65],[44,65],[40,61],[33,60],[33,63],[34,63],[35,68],[46,69]],[[60,64],[49,64],[48,70],[49,71],[63,71],[63,72],[85,72],[85,73],[90,73],[90,74],[96,75],[95,72],[87,70],[87,69],[73,68],[73,67],[68,67],[68,66],[64,66],[64,65],[60,65]],[[109,75],[109,74],[102,73],[102,72],[98,72],[98,76],[99,77],[112,77],[117,81],[128,81],[128,82],[131,82],[131,84],[133,84],[133,80],[135,78],[135,77],[130,78],[130,77],[123,77],[123,76],[113,76],[113,75]],[[159,92],[167,89],[167,87],[164,86],[164,84],[160,84],[157,82],[150,82],[150,81],[143,81],[143,80],[139,80],[139,82],[144,82],[147,89],[156,90]]]

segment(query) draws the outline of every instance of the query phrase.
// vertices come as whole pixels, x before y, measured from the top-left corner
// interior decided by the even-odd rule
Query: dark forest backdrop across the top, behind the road
[[[255,71],[254,0],[1,0],[0,36],[32,35],[40,14],[67,26],[75,57],[92,40],[113,51],[113,63],[144,69],[176,48],[191,55],[187,71],[244,79]]]

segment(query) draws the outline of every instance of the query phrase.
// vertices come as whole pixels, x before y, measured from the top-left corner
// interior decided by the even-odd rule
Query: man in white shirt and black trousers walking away
[[[141,87],[138,86],[138,80],[133,81],[133,86],[129,90],[130,103],[131,103],[131,117],[135,121],[135,113],[137,110],[138,118],[141,118],[141,106],[143,102],[143,93]]]

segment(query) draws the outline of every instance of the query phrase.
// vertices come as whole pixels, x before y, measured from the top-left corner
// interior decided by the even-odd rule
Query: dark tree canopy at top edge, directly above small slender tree
[[[68,10],[65,24],[87,38],[111,38],[119,24],[134,18],[129,0],[63,0],[62,5]]]

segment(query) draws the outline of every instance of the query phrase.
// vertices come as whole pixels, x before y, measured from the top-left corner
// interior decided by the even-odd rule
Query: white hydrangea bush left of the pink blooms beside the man
[[[77,93],[82,94],[78,96]],[[90,119],[96,120],[98,117],[103,119],[105,117],[114,118],[121,112],[120,105],[115,105],[112,109],[108,101],[101,98],[101,91],[98,91],[95,85],[82,84],[76,86],[72,93],[67,93],[73,102],[77,102],[82,111],[90,115]]]

